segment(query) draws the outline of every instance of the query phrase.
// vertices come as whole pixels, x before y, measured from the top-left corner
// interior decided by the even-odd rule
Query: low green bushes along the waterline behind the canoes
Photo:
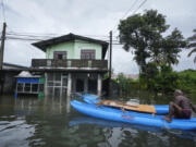
[[[151,69],[151,70],[150,70]],[[148,63],[148,82],[140,74],[139,79],[126,78],[122,73],[114,81],[119,84],[120,95],[128,96],[131,91],[150,90],[152,93],[173,93],[181,89],[191,97],[196,96],[196,71],[175,72],[170,65],[162,64],[159,69],[155,63]]]

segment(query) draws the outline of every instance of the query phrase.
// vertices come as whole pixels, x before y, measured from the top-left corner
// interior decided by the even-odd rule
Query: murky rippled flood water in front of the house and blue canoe
[[[196,132],[123,124],[86,117],[74,98],[0,96],[0,147],[194,147]],[[143,103],[167,103],[143,100]]]

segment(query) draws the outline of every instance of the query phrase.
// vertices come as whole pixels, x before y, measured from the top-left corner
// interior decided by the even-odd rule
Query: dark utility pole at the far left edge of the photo
[[[4,53],[5,29],[7,29],[7,23],[4,22],[4,23],[3,23],[2,35],[1,35],[0,70],[2,70],[2,66],[3,66],[3,53]]]

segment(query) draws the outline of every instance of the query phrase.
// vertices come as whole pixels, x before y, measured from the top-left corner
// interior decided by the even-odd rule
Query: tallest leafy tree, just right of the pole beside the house
[[[135,14],[122,20],[119,25],[120,42],[128,51],[134,50],[134,60],[140,66],[142,72],[146,70],[146,59],[150,57],[150,47],[159,46],[161,33],[164,33],[169,26],[162,14],[150,10],[145,14]]]

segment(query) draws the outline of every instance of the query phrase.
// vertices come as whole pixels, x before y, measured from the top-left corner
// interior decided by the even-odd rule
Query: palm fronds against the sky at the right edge
[[[196,52],[196,29],[193,30],[194,35],[187,38],[189,41],[188,48],[193,48],[192,51],[187,54],[187,57],[191,57],[192,53]],[[196,56],[194,58],[194,63],[196,63]]]

